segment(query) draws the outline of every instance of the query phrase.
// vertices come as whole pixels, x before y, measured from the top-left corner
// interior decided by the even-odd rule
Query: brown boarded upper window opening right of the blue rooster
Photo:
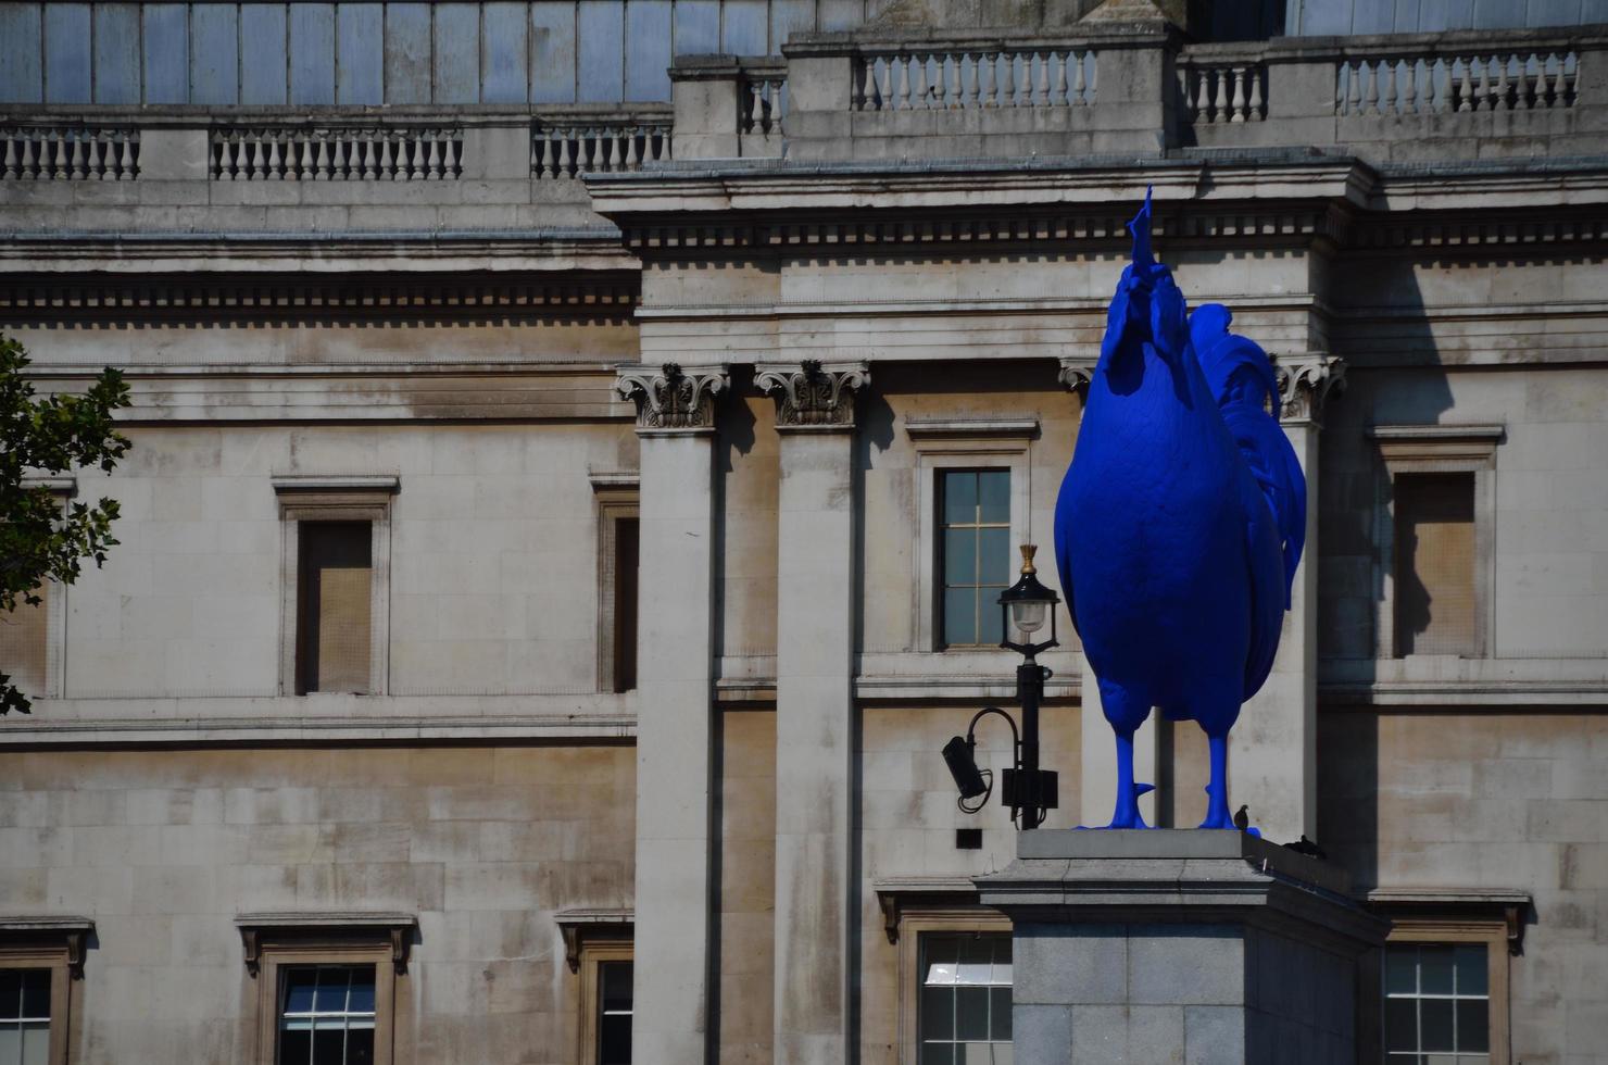
[[[1396,655],[1475,655],[1475,475],[1396,478]]]

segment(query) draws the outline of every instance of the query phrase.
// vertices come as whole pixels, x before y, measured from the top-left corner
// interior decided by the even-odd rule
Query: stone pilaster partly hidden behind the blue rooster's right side
[[[1317,500],[1323,405],[1346,386],[1344,360],[1320,352],[1275,359],[1280,423],[1307,484],[1307,534],[1290,590],[1274,671],[1229,734],[1230,801],[1249,806],[1269,840],[1317,837]]]

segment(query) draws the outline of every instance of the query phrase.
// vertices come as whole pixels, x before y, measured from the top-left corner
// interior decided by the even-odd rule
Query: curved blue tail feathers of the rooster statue
[[[1285,553],[1285,608],[1306,547],[1306,475],[1278,426],[1278,378],[1256,341],[1229,331],[1233,315],[1204,304],[1190,315],[1190,346],[1240,454],[1274,513]],[[1269,413],[1272,410],[1274,413]]]

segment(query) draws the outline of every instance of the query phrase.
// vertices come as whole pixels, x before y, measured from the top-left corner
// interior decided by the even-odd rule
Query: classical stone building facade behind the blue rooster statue
[[[1307,471],[1230,798],[1396,922],[1365,1060],[1608,1062],[1605,23],[0,3],[0,328],[133,388],[51,484],[122,542],[0,632],[0,1065],[1010,1060],[937,753],[1147,188]]]

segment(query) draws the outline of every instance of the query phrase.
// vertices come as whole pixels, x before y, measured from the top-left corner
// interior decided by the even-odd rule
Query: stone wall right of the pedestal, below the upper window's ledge
[[[1608,1031],[1608,729],[1585,713],[1330,711],[1319,832],[1357,886],[1529,891],[1513,1059],[1597,1062]]]

